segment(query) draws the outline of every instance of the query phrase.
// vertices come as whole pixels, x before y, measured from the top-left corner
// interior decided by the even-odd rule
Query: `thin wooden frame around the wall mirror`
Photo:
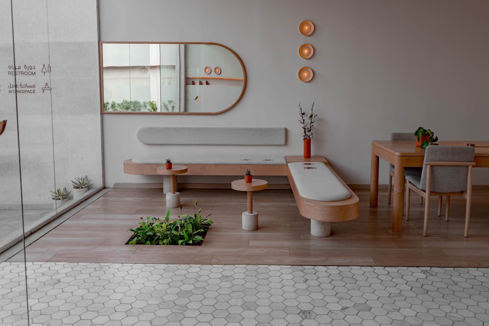
[[[236,99],[236,101],[234,101],[233,104],[231,104],[229,107],[227,108],[224,108],[220,111],[215,111],[215,112],[150,112],[150,111],[106,111],[104,110],[104,60],[103,60],[103,44],[178,44],[178,45],[181,45],[181,44],[202,44],[202,45],[217,45],[217,46],[221,46],[222,48],[228,50],[229,52],[231,52],[234,57],[238,60],[240,66],[241,66],[241,69],[243,71],[243,78],[241,79],[235,79],[235,80],[242,80],[243,81],[243,87],[241,89],[241,92],[238,96],[238,98]],[[223,45],[223,44],[220,44],[220,43],[213,43],[213,42],[103,42],[103,41],[100,41],[99,42],[99,70],[100,70],[100,109],[101,109],[101,112],[104,113],[104,114],[196,114],[196,115],[214,115],[214,114],[220,114],[220,113],[223,113],[225,111],[228,111],[230,109],[232,109],[234,106],[236,106],[236,104],[241,100],[241,98],[243,97],[243,94],[244,94],[244,90],[246,89],[246,81],[247,81],[247,78],[246,78],[246,69],[244,68],[244,64],[243,64],[243,61],[241,60],[241,58],[238,56],[238,54],[236,52],[234,52],[232,49],[230,49],[229,47]],[[207,67],[206,67],[207,68]],[[204,69],[206,69],[204,68]],[[216,67],[218,68],[218,67]],[[221,69],[219,68],[219,72],[221,71]],[[206,77],[205,75],[207,75],[207,71],[204,70],[204,75],[202,76],[201,79],[209,79],[209,77]],[[217,74],[217,72],[216,72]],[[186,77],[186,78],[190,78],[190,77]],[[225,78],[222,78],[222,79],[225,79]],[[234,78],[229,78],[229,79],[234,79]],[[202,85],[202,84],[200,84]],[[206,83],[206,85],[209,85]],[[187,85],[185,85],[187,86]],[[197,100],[199,98],[199,96],[195,97],[195,100]]]

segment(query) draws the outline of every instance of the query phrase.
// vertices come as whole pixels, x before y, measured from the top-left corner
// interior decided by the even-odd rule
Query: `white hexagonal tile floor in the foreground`
[[[489,268],[27,263],[29,325],[489,325]],[[0,323],[28,325],[22,263]],[[23,285],[22,285],[23,284]]]

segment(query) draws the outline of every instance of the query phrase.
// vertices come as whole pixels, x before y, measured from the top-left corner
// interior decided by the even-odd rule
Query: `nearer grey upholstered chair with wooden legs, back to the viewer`
[[[472,197],[472,166],[475,148],[472,146],[428,146],[424,154],[421,176],[406,176],[406,219],[409,219],[411,190],[425,198],[423,236],[428,231],[429,196],[446,196],[445,220],[449,219],[450,196],[467,199],[464,236],[468,237]]]

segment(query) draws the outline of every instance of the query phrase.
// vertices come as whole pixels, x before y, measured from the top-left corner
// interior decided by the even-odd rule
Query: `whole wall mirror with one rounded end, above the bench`
[[[238,55],[218,43],[100,42],[103,113],[218,114],[244,93]]]

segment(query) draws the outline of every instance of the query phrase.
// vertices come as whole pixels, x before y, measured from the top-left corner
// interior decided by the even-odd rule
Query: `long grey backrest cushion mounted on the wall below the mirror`
[[[285,145],[284,127],[143,127],[137,139],[148,145]]]

